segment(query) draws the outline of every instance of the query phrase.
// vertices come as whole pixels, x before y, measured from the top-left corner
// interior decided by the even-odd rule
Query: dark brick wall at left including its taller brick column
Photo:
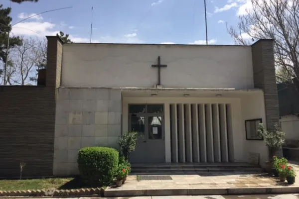
[[[62,42],[47,37],[46,86],[0,86],[0,177],[52,176]]]

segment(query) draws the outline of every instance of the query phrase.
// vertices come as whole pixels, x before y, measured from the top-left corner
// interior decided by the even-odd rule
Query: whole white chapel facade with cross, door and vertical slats
[[[255,128],[278,122],[273,41],[252,46],[57,44],[53,175],[78,173],[82,147],[119,148],[132,163],[252,162],[268,154]],[[48,49],[48,54],[51,49]]]

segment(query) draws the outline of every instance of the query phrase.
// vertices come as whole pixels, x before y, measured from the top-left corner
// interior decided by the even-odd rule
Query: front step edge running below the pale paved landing
[[[116,190],[108,188],[103,197],[138,197],[138,196],[196,196],[196,195],[246,195],[246,194],[297,194],[296,187],[261,187],[261,188],[215,188],[215,189],[149,189]]]

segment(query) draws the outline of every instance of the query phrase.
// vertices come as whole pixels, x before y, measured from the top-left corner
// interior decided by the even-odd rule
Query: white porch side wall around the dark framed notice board
[[[241,97],[241,111],[242,111],[242,140],[244,140],[244,151],[246,159],[249,161],[249,153],[260,154],[260,165],[263,167],[265,161],[268,161],[268,150],[263,140],[246,140],[245,120],[262,118],[264,126],[266,123],[264,94],[261,92],[255,95],[248,95]],[[243,144],[242,143],[242,144]]]

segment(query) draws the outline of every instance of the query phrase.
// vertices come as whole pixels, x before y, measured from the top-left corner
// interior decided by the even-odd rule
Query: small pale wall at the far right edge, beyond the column
[[[286,140],[299,140],[299,117],[295,115],[283,116],[280,119],[282,131],[286,133]]]

